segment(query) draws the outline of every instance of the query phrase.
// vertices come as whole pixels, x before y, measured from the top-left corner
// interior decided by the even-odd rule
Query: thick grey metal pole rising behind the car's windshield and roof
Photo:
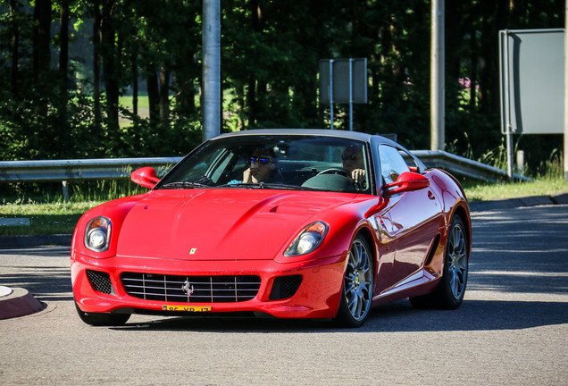
[[[221,0],[203,0],[203,140],[221,132]]]

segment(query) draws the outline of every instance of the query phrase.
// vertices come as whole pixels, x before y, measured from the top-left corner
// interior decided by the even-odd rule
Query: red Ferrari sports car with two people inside
[[[364,323],[372,306],[462,303],[464,190],[396,142],[340,130],[248,130],[196,147],[151,190],[84,214],[71,245],[80,318],[134,313]]]

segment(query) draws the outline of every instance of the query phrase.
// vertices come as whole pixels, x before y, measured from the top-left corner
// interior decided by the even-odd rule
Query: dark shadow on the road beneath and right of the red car
[[[356,329],[338,329],[329,321],[236,317],[171,317],[113,327],[121,331],[209,332],[409,332],[519,330],[568,323],[568,303],[469,300],[457,310],[419,310],[407,300],[373,308]]]

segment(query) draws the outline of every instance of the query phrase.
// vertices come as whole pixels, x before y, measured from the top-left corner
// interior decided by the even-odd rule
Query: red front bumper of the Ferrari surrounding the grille
[[[338,311],[346,258],[347,255],[341,255],[288,264],[273,260],[182,261],[123,256],[101,259],[71,250],[71,282],[75,301],[87,313],[172,315],[171,310],[181,310],[190,315],[205,309],[213,313],[261,312],[282,318],[331,318]],[[186,276],[257,276],[260,285],[254,296],[228,302],[219,298],[205,301],[198,297],[146,297],[125,287],[125,276],[133,274],[168,280],[183,280]],[[299,282],[297,289],[277,289],[280,282],[286,281],[279,278],[288,276],[294,276],[294,280],[287,282]]]

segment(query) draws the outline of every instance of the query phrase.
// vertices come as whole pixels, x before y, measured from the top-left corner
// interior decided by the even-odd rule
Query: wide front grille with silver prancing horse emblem
[[[135,298],[182,303],[237,303],[255,298],[259,276],[174,276],[122,273],[122,286]]]

